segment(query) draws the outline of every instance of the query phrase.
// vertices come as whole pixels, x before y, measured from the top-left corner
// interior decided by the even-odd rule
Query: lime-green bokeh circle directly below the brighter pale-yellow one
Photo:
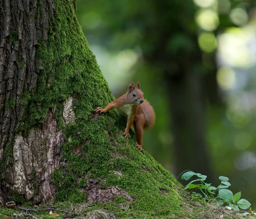
[[[217,48],[217,39],[212,33],[204,32],[198,37],[198,44],[204,52],[213,52]]]

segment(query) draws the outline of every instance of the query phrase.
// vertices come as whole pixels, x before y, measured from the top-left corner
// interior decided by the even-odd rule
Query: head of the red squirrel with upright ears
[[[135,87],[134,82],[131,82],[127,92],[127,98],[131,104],[142,104],[144,101],[144,94],[140,89],[140,83],[137,82],[137,88]]]

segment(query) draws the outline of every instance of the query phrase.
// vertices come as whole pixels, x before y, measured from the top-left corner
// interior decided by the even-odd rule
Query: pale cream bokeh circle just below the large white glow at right
[[[230,90],[236,84],[236,73],[228,67],[221,67],[217,72],[217,82],[221,89]]]

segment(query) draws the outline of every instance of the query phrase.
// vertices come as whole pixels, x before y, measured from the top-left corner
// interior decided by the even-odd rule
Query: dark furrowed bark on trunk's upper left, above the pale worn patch
[[[51,0],[0,2],[0,158],[26,111],[19,95],[36,89],[41,66],[35,53],[47,40],[53,9]]]

